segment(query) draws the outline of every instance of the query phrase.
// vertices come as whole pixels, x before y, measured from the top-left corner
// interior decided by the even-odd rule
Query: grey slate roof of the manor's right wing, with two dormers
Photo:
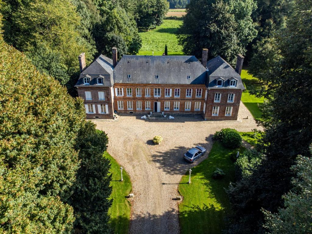
[[[241,81],[241,76],[220,56],[217,56],[206,64],[208,83],[207,87],[209,89],[245,89],[243,82]],[[223,87],[217,87],[217,80],[222,78]],[[236,79],[236,87],[230,87],[230,80]]]

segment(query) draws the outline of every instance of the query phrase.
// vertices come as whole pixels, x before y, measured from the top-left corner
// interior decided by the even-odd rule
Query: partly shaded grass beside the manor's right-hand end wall
[[[241,71],[241,79],[246,88],[246,90],[241,95],[241,101],[248,108],[248,110],[251,112],[251,115],[255,119],[261,119],[262,113],[258,107],[258,104],[263,103],[264,98],[257,98],[255,97],[255,95],[251,95],[248,93],[248,90],[255,89],[261,86],[261,84],[256,78],[249,75],[247,71],[248,69],[246,67],[244,67],[244,69]]]

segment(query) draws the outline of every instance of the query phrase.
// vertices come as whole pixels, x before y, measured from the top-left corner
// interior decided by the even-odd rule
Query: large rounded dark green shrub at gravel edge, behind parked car
[[[213,139],[220,140],[222,144],[230,149],[236,149],[241,146],[241,135],[235,129],[224,128],[216,132]]]

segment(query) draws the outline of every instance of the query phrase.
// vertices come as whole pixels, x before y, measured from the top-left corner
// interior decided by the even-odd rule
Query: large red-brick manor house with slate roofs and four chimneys
[[[81,74],[75,87],[84,99],[88,119],[113,119],[117,113],[146,115],[201,114],[208,120],[236,120],[244,85],[244,57],[237,56],[235,70],[217,56],[202,63],[195,56],[124,55],[117,61],[100,55],[85,66],[79,55]]]

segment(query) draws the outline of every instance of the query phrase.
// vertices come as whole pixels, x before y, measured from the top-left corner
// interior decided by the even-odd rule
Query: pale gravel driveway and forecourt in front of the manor
[[[248,119],[245,119],[248,116]],[[208,156],[212,134],[222,128],[249,132],[257,128],[249,110],[241,103],[237,121],[203,121],[201,117],[174,120],[141,120],[120,116],[118,122],[93,120],[109,137],[108,152],[129,173],[134,198],[131,198],[130,234],[177,234],[180,232],[178,183],[185,172]],[[164,141],[154,145],[161,135]],[[182,156],[193,146],[207,149],[207,154],[193,164]]]

